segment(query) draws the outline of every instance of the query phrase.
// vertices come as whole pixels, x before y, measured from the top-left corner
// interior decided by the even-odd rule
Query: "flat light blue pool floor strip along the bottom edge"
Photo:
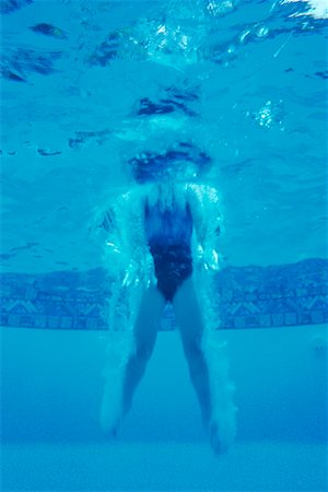
[[[195,443],[5,444],[1,491],[327,490],[319,444],[239,443],[223,457]]]

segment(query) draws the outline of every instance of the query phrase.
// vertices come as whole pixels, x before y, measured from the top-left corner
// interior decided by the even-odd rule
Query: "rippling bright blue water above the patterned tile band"
[[[229,265],[327,256],[319,7],[15,3],[22,8],[2,15],[4,271],[99,266],[86,235],[91,210],[130,186],[128,159],[181,138],[214,161]],[[32,30],[39,24],[52,35]],[[175,104],[140,115],[144,98]]]

